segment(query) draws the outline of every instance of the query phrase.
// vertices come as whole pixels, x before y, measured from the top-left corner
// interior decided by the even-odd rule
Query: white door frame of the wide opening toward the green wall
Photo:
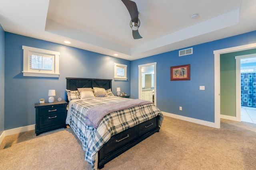
[[[240,45],[236,47],[230,47],[226,49],[219,49],[219,50],[213,51],[214,53],[214,127],[215,128],[220,128],[220,55],[225,53],[232,53],[236,51],[243,51],[243,50],[255,49],[255,48],[256,48],[256,43],[252,43],[252,44]],[[236,96],[236,103],[237,103],[237,100],[241,100],[240,96],[239,98]]]

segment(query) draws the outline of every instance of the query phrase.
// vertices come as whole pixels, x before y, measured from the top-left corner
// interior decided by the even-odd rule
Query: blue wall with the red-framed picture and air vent
[[[256,31],[192,46],[192,55],[179,57],[179,50],[175,50],[131,61],[131,98],[138,98],[138,65],[156,62],[159,109],[214,122],[213,51],[250,43],[256,43]],[[170,66],[183,64],[190,64],[190,80],[170,81]],[[205,86],[205,90],[199,90],[199,86]],[[182,106],[182,111],[179,106]]]

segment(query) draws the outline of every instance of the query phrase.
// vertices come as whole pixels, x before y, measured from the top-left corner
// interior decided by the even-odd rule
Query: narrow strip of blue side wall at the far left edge
[[[0,136],[4,131],[4,29],[0,24]]]

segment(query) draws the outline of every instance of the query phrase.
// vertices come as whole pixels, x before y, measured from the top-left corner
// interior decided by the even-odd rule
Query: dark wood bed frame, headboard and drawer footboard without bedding
[[[105,88],[108,90],[112,88],[112,80],[95,78],[66,78],[66,89],[68,90],[92,87]],[[154,133],[159,132],[159,130],[159,116],[157,116],[112,136],[110,140],[98,151],[98,168],[103,168],[104,164],[137,145],[144,139],[150,137]]]

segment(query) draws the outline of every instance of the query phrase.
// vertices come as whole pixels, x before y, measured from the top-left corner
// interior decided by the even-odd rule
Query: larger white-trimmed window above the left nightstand
[[[22,45],[23,76],[59,77],[60,53]]]

